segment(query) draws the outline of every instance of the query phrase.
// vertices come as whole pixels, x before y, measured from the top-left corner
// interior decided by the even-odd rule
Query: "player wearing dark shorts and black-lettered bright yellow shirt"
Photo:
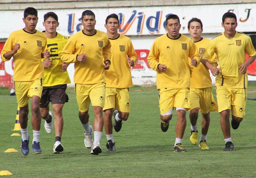
[[[44,128],[47,133],[52,132],[52,113],[49,112],[49,102],[52,103],[52,110],[55,116],[55,144],[53,153],[60,153],[64,150],[61,144],[61,135],[63,130],[62,109],[65,102],[68,102],[68,96],[65,93],[70,78],[67,73],[69,63],[62,62],[60,54],[68,37],[64,37],[56,32],[58,27],[58,16],[54,12],[44,14],[45,31],[47,36],[47,48],[50,51],[50,58],[43,59],[44,64],[44,85],[40,101],[40,112],[45,120]]]

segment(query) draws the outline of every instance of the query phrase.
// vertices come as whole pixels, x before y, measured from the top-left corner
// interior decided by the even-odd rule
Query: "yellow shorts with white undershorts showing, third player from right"
[[[160,114],[173,107],[190,109],[189,88],[161,88],[159,93]]]

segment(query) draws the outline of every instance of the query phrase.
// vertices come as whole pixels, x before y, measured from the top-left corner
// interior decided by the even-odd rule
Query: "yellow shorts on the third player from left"
[[[85,113],[89,109],[90,102],[92,102],[92,106],[104,107],[104,82],[92,85],[76,84],[75,91],[78,108],[81,113]]]

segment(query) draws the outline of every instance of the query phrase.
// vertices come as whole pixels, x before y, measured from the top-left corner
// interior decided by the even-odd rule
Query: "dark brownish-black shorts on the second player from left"
[[[42,96],[40,100],[40,107],[47,107],[49,102],[53,104],[64,104],[68,102],[66,94],[67,84],[55,85],[51,87],[43,87]]]

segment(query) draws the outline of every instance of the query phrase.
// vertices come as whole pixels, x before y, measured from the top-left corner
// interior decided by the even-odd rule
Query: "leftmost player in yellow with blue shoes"
[[[44,66],[41,58],[49,57],[49,52],[44,48],[47,44],[47,37],[44,33],[35,29],[38,23],[38,12],[35,8],[28,7],[24,10],[23,22],[25,28],[14,31],[6,40],[1,59],[8,61],[14,59],[14,82],[18,106],[20,107],[20,131],[21,146],[23,155],[29,154],[29,134],[27,130],[29,114],[29,98],[31,101],[34,154],[42,153],[39,136],[41,126],[41,114],[39,102],[43,89]],[[43,54],[44,52],[44,54]]]

